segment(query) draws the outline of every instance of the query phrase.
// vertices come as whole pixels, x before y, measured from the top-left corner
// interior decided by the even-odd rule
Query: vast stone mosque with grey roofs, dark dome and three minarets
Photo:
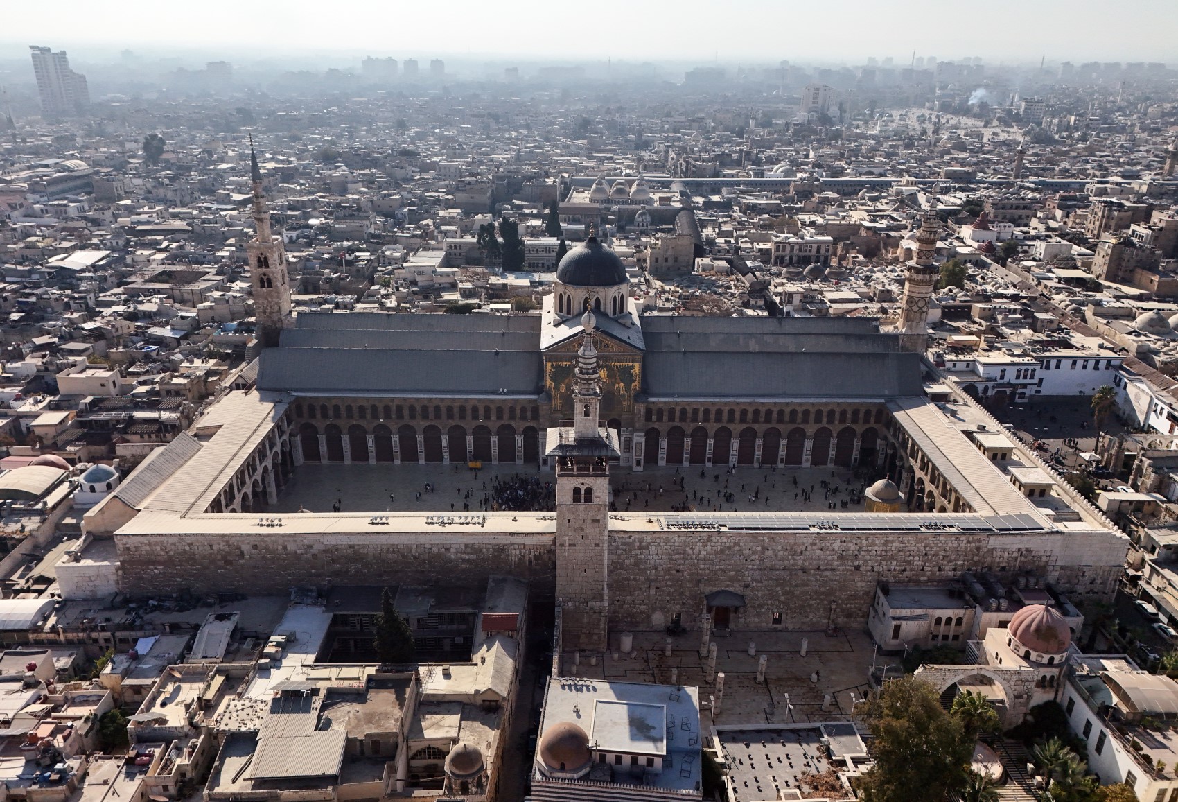
[[[257,383],[225,393],[87,512],[90,531],[114,535],[126,592],[505,575],[556,599],[568,648],[603,650],[623,629],[861,627],[881,579],[1033,571],[1073,597],[1114,591],[1126,538],[1028,449],[995,442],[980,407],[926,392],[933,220],[896,331],[865,318],[640,314],[624,265],[593,236],[561,260],[538,314],[296,319],[256,161],[252,177]],[[1040,469],[1044,492],[1014,483],[1013,458]],[[265,512],[312,464],[514,464],[555,482],[556,509]],[[656,466],[829,466],[878,482],[859,512],[610,509],[611,475]]]

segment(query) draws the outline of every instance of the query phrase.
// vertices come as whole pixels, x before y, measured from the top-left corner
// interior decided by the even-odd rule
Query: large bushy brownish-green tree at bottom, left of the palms
[[[942,802],[966,784],[973,740],[919,677],[892,680],[867,701],[875,765],[863,775],[865,802]]]

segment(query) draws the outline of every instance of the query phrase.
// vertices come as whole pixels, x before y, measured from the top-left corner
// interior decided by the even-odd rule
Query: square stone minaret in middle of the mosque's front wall
[[[548,456],[556,466],[556,603],[564,649],[609,647],[609,460],[617,436],[598,426],[601,385],[593,344],[594,313],[583,333],[573,386],[573,425],[549,429]]]

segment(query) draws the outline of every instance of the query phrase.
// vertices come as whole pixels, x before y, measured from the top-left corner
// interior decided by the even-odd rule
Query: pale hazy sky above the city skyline
[[[1121,14],[1124,21],[1114,15]],[[867,55],[1178,61],[1178,0],[93,0],[0,4],[0,55],[210,48],[763,62]],[[245,47],[256,47],[245,51]]]

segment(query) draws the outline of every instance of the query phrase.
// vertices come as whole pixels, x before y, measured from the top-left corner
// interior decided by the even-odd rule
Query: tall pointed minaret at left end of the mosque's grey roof
[[[294,324],[291,317],[291,287],[286,276],[286,248],[282,237],[270,233],[270,212],[262,193],[262,171],[250,138],[250,180],[253,183],[253,239],[245,245],[253,285],[253,314],[258,320],[258,342],[263,347],[278,345],[278,334]]]

